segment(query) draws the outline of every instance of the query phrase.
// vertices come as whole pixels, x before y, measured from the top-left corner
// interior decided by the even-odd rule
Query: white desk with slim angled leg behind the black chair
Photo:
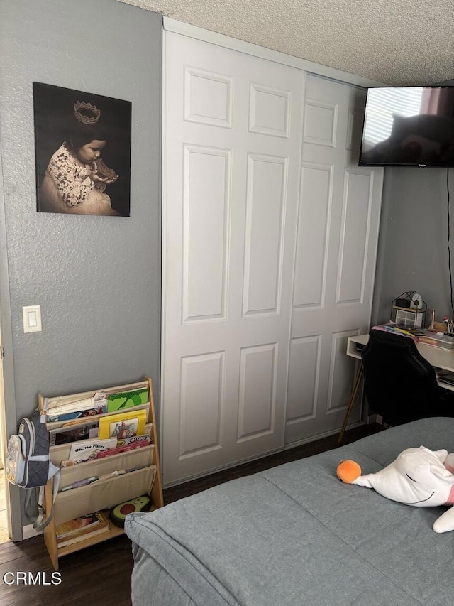
[[[402,337],[404,338],[404,337]],[[356,359],[361,359],[361,350],[369,340],[369,335],[357,335],[356,337],[348,337],[347,340],[347,355]],[[416,343],[416,347],[422,357],[431,364],[435,369],[440,368],[443,370],[450,370],[454,372],[454,350],[444,350],[443,347],[434,347],[433,345],[427,345],[426,343]],[[345,428],[347,427],[348,418],[355,404],[355,399],[360,388],[362,379],[362,364],[356,375],[355,383],[353,384],[352,394],[350,396],[350,402],[348,403],[347,412],[343,421],[341,433],[339,433],[338,444],[341,444]],[[437,381],[438,385],[443,389],[450,389],[454,391],[454,385]]]

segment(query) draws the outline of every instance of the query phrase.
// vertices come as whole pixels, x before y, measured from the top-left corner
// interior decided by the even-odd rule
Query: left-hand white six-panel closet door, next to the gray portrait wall
[[[303,88],[165,35],[166,485],[284,445]]]

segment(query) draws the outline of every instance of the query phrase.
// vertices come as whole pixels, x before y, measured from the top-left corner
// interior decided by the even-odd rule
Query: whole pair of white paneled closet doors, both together
[[[171,32],[164,82],[171,485],[341,426],[380,195],[372,171],[345,168],[363,90]]]

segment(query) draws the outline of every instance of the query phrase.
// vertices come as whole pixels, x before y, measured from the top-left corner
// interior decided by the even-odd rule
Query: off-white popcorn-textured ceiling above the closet
[[[392,85],[454,78],[453,0],[119,0]]]

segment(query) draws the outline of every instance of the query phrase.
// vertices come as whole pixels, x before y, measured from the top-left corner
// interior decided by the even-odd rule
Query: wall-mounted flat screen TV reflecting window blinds
[[[454,166],[454,86],[367,89],[360,166]]]

